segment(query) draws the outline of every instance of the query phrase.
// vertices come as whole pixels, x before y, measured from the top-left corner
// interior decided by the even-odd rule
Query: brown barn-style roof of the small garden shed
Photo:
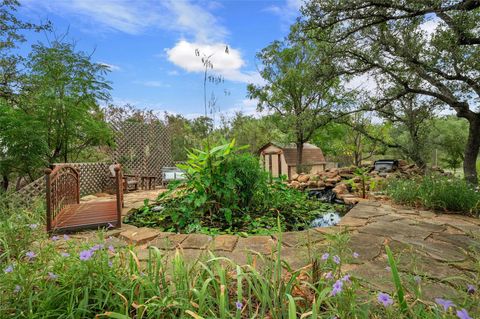
[[[265,150],[271,145],[281,148],[283,150],[287,165],[297,165],[297,146],[295,144],[281,144],[270,142],[262,146],[258,150],[258,153],[260,154],[263,150]],[[319,147],[310,143],[303,144],[302,165],[317,165],[325,163],[325,157],[323,156],[323,152]]]

